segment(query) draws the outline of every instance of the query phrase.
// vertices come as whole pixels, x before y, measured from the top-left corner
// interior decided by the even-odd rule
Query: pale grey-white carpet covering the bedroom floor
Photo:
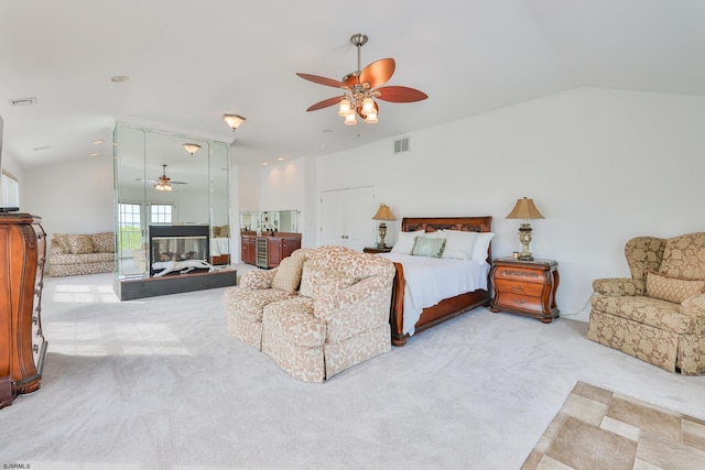
[[[0,470],[517,470],[577,382],[705,419],[705,375],[567,311],[478,308],[312,384],[228,335],[223,288],[119,302],[112,281],[44,280],[42,389],[0,411]]]

